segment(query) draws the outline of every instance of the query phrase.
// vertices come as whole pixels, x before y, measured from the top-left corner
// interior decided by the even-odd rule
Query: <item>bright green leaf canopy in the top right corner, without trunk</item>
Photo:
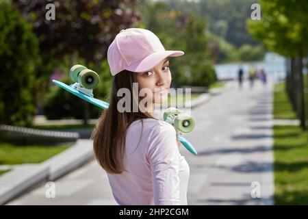
[[[248,20],[248,31],[267,49],[287,57],[307,55],[308,2],[261,0],[261,21]]]

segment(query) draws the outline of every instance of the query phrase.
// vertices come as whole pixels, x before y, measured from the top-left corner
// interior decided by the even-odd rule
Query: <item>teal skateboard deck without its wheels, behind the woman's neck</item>
[[[68,86],[66,83],[63,83],[61,81],[57,81],[55,79],[53,79],[53,83],[55,83],[60,88],[63,88],[64,90],[78,96],[79,98],[84,99],[84,101],[88,101],[89,103],[92,103],[93,105],[96,105],[97,107],[102,108],[103,110],[107,110],[108,107],[109,107],[109,103],[94,98],[93,95],[92,95],[92,90],[84,89],[84,88],[80,87],[78,83],[74,83],[74,84]],[[79,90],[77,90],[77,87],[79,88]],[[85,92],[81,92],[81,90],[83,90],[83,89],[84,89]],[[89,91],[90,91],[90,93],[89,93]],[[194,146],[192,146],[192,144],[190,142],[188,142],[188,140],[186,140],[180,134],[178,134],[178,137],[179,137],[181,144],[183,144],[183,146],[185,146],[185,148],[188,149],[188,151],[190,151],[190,153],[192,153],[194,155],[198,154],[196,152],[196,149],[194,149]]]

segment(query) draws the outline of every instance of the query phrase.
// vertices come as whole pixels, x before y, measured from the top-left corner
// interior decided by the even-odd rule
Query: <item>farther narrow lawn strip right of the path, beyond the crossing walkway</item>
[[[275,119],[296,119],[290,99],[285,92],[285,83],[277,83],[274,88],[274,110]]]

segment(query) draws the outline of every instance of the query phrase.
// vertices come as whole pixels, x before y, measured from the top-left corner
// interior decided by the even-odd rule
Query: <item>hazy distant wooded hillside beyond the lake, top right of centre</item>
[[[256,0],[201,0],[165,1],[168,8],[180,11],[183,14],[194,14],[207,21],[207,34],[210,36],[208,42],[209,58],[212,62],[235,62],[235,61],[256,61],[262,59],[264,54],[260,47],[254,48],[260,42],[253,40],[246,30],[245,20],[251,16],[251,5],[258,3]],[[166,8],[163,7],[163,8]],[[253,53],[248,59],[240,55],[240,47],[249,44]],[[264,50],[264,49],[263,49]],[[261,53],[260,53],[261,52]],[[242,60],[242,57],[244,59]]]

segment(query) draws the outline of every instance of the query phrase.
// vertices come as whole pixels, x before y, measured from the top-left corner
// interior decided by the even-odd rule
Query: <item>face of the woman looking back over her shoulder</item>
[[[168,99],[171,83],[168,57],[162,60],[155,68],[144,73],[137,73],[138,88],[149,88],[147,96],[150,103],[164,103]]]

